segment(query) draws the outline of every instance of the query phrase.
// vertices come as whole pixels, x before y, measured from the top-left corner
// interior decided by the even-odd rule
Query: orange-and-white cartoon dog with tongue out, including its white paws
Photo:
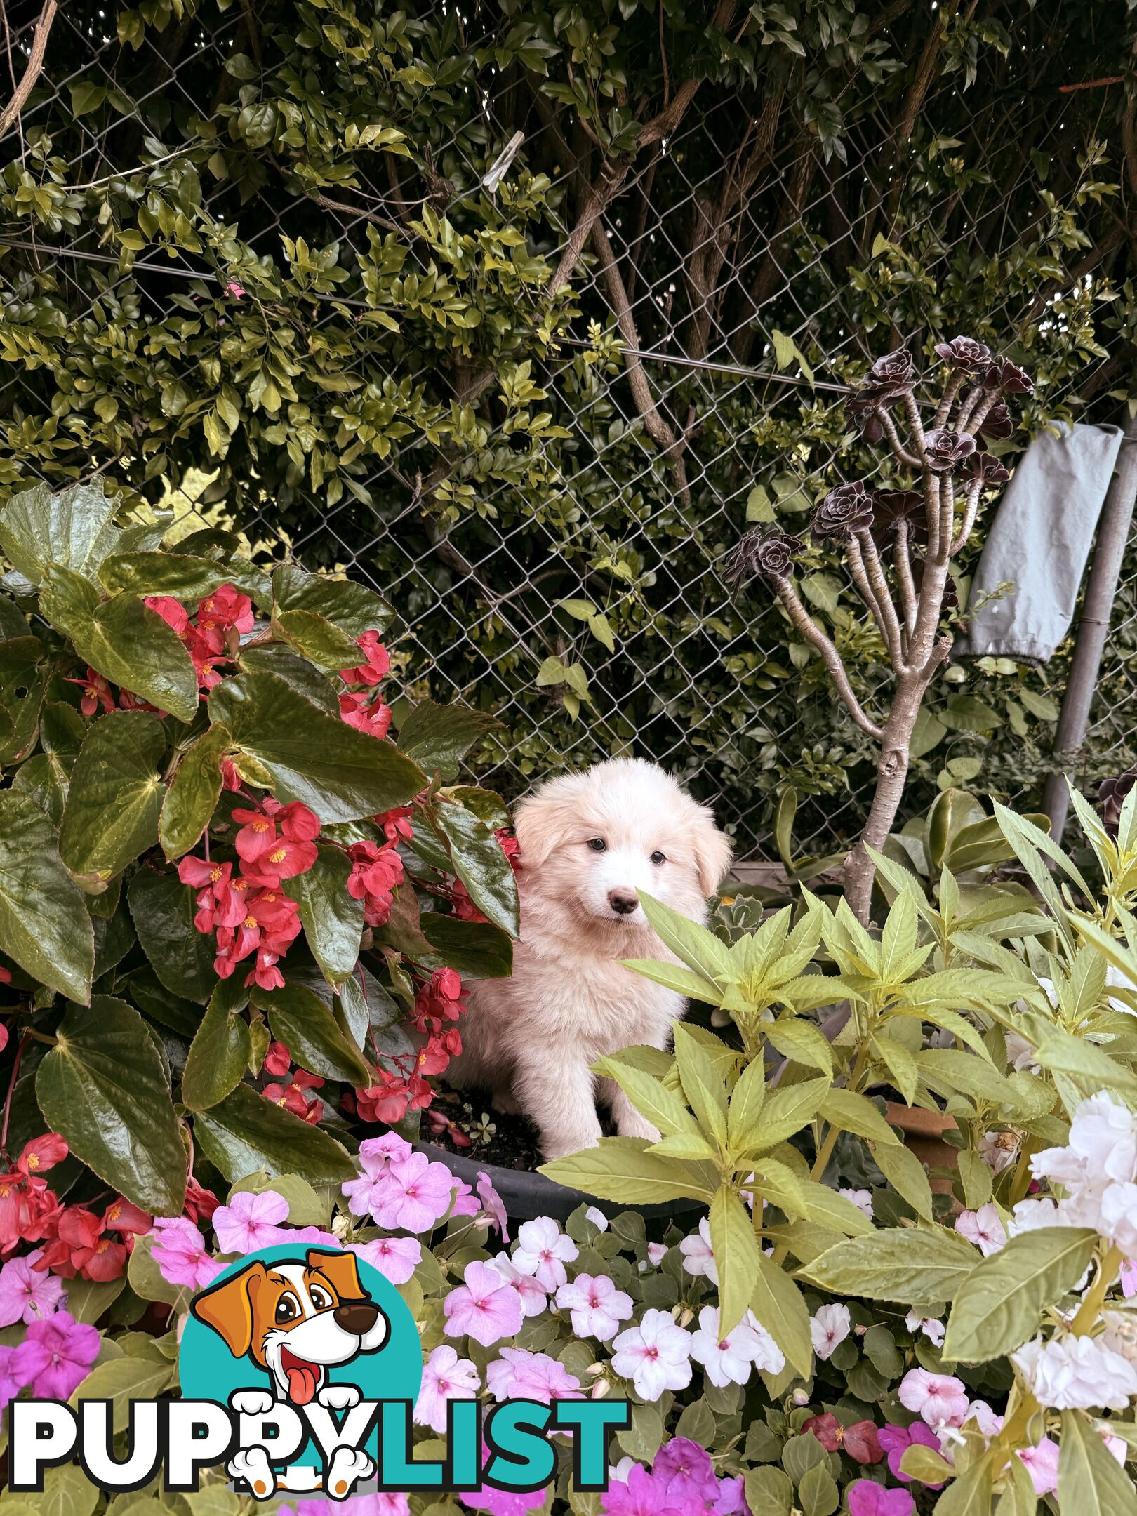
[[[233,1410],[261,1416],[273,1401],[296,1407],[315,1401],[326,1410],[347,1410],[361,1401],[352,1384],[329,1383],[327,1370],[377,1352],[391,1334],[387,1314],[362,1286],[353,1252],[309,1248],[300,1260],[264,1264],[253,1260],[240,1273],[203,1290],[190,1307],[211,1326],[235,1358],[247,1357],[271,1383],[267,1390],[240,1390]],[[326,1489],[343,1498],[355,1478],[373,1472],[362,1452],[337,1449]],[[274,1475],[264,1449],[238,1452],[229,1474],[249,1483],[258,1499],[273,1489],[311,1487],[312,1471]]]

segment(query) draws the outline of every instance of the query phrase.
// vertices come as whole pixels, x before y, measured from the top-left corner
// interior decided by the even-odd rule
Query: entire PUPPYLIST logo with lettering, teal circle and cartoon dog
[[[573,1478],[606,1487],[608,1443],[631,1425],[626,1401],[503,1401],[447,1407],[447,1454],[415,1461],[412,1411],[423,1377],[414,1317],[394,1286],[353,1252],[265,1248],[194,1296],[179,1352],[180,1401],[132,1401],[127,1455],[115,1458],[112,1402],[15,1401],[9,1487],[41,1492],[44,1469],[76,1455],[92,1484],[136,1490],[164,1467],[196,1490],[224,1464],[258,1501],[361,1486],[387,1492],[543,1489],[553,1431],[573,1433]]]

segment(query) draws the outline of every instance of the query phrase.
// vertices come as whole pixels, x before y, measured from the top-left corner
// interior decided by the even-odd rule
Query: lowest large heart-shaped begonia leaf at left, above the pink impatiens
[[[36,1070],[35,1095],[71,1152],[155,1216],[180,1216],[185,1149],[162,1058],[124,1001],[68,1008]]]

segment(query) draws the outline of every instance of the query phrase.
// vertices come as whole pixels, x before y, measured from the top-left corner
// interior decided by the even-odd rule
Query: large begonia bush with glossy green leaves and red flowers
[[[167,525],[102,484],[0,514],[0,1148],[59,1134],[147,1214],[346,1176],[517,931],[508,813],[453,784],[491,719],[396,723],[374,591]],[[88,1278],[129,1254],[105,1204],[42,1234]]]

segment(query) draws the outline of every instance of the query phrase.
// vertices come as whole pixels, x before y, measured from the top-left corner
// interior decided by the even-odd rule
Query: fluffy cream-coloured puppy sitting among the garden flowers
[[[546,1158],[596,1146],[597,1095],[622,1135],[656,1139],[611,1079],[596,1088],[590,1064],[622,1048],[667,1046],[682,996],[619,963],[675,961],[637,891],[700,922],[731,844],[706,807],[643,760],[552,779],[520,802],[515,822],[514,972],[470,987],[453,1072],[462,1084],[490,1087],[499,1110],[520,1108]]]

